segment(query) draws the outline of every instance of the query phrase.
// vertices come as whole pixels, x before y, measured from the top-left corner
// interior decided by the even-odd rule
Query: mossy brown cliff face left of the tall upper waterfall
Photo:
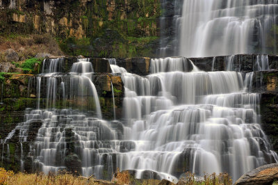
[[[48,33],[72,56],[155,56],[161,2],[3,1],[0,32]]]

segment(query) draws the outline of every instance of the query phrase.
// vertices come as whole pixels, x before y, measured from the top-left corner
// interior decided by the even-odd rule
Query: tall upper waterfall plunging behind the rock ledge
[[[277,0],[185,0],[182,11],[180,56],[277,53]]]

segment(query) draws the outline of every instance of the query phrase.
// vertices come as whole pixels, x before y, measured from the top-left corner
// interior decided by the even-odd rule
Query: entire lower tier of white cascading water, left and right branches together
[[[59,66],[59,60],[44,62]],[[92,64],[79,59],[67,75],[50,67],[37,77],[38,109],[26,109],[24,122],[3,140],[3,150],[17,130],[19,142],[25,142],[29,129],[40,124],[29,156],[33,170],[45,173],[74,168],[111,179],[120,168],[136,170],[138,178],[153,177],[152,170],[161,179],[177,179],[186,170],[229,172],[238,179],[277,162],[259,125],[259,95],[248,93],[252,74],[235,72],[233,56],[227,57],[225,72],[202,72],[184,57],[152,59],[146,77],[126,72],[115,59],[109,62],[124,81],[122,134],[114,127],[117,121],[101,120]],[[254,65],[268,70],[268,56],[257,56]],[[89,102],[94,111],[85,106]]]

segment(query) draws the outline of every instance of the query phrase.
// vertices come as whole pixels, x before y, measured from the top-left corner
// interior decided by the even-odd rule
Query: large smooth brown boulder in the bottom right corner
[[[247,172],[235,185],[241,184],[272,184],[278,179],[278,164],[268,164]]]

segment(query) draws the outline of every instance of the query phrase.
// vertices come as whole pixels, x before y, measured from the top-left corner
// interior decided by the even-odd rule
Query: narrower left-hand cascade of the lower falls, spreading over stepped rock
[[[68,167],[65,161],[74,159],[77,162],[82,161],[76,168],[80,167],[83,175],[94,173],[96,177],[103,178],[101,169],[104,168],[104,161],[111,161],[111,156],[107,156],[106,153],[113,151],[110,148],[106,149],[106,140],[113,142],[117,134],[108,122],[101,120],[97,90],[91,80],[92,64],[88,59],[79,59],[72,65],[70,75],[65,75],[61,73],[61,63],[63,58],[44,60],[43,73],[36,78],[38,109],[26,109],[24,122],[19,123],[3,140],[3,149],[4,144],[13,138],[17,130],[19,142],[26,142],[28,130],[34,123],[40,124],[35,143],[30,147],[29,153],[33,159],[34,171],[57,172]],[[62,109],[56,108],[60,100]],[[42,108],[41,102],[44,102],[46,109]],[[79,103],[81,106],[92,102],[95,111],[89,111],[88,106],[85,106],[85,111],[66,109],[69,106],[68,102]],[[24,170],[23,158],[21,161]],[[107,166],[107,163],[105,165]],[[111,166],[112,161],[109,167]]]

